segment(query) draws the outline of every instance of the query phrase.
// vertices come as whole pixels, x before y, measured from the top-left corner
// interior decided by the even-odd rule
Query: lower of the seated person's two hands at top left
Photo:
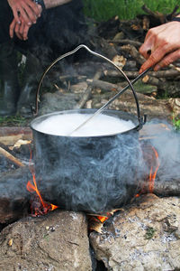
[[[15,33],[20,40],[26,41],[28,39],[28,32],[31,25],[25,23],[22,16],[20,16],[20,20],[21,23],[17,23],[14,18],[9,27],[9,34],[10,37],[13,38]]]

